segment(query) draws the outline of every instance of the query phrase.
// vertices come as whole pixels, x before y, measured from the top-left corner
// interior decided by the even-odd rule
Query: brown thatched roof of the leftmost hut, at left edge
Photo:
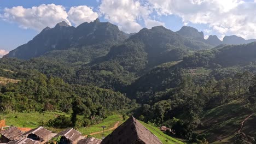
[[[0,132],[1,135],[9,139],[10,141],[16,140],[23,134],[21,130],[16,127],[10,127],[9,129]]]

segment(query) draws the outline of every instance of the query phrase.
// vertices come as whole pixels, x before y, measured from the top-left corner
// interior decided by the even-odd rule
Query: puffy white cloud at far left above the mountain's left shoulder
[[[68,14],[62,5],[42,4],[38,7],[24,8],[22,6],[4,8],[1,18],[10,22],[18,22],[22,28],[32,28],[41,31],[46,26],[54,27],[56,23],[66,21]]]

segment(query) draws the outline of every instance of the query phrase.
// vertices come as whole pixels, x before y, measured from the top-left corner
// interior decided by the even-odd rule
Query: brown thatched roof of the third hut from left
[[[59,137],[59,136],[65,136],[66,139],[70,140],[71,142],[77,142],[78,140],[80,140],[80,137],[82,136],[82,134],[79,131],[72,128],[72,129],[61,131],[59,134],[57,134],[54,137]]]

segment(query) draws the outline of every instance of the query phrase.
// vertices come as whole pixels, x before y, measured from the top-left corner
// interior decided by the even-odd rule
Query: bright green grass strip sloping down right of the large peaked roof
[[[174,139],[173,137],[171,136],[168,136],[164,133],[162,133],[162,131],[159,129],[159,128],[156,128],[156,127],[153,127],[152,125],[149,125],[147,123],[144,123],[142,121],[140,121],[144,127],[146,127],[149,131],[151,131],[154,135],[156,135],[158,137],[158,139],[163,143],[163,144],[167,144],[167,143],[180,143],[182,144],[183,142],[179,141],[179,140],[176,140]]]

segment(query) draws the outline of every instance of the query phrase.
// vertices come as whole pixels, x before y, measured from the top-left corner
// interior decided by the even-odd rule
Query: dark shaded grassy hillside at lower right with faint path
[[[243,105],[245,103],[232,101],[206,111],[201,119],[203,128],[200,134],[205,135],[210,143],[232,143],[232,138],[240,128],[241,122],[251,114],[251,111]]]

